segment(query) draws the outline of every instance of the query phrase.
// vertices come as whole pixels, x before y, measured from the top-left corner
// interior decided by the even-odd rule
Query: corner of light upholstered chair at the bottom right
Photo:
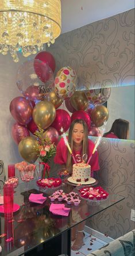
[[[135,255],[135,230],[129,231],[124,236],[113,240],[87,256],[134,256]]]

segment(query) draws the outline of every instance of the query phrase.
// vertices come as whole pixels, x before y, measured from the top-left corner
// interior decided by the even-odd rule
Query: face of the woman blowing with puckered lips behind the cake
[[[76,144],[80,144],[83,141],[83,125],[82,124],[75,124],[73,133],[72,133],[72,140]]]

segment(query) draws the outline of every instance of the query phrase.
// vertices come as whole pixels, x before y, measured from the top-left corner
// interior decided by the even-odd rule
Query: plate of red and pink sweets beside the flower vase
[[[60,178],[38,179],[36,183],[39,188],[52,189],[52,188],[58,188],[61,185],[61,179]]]

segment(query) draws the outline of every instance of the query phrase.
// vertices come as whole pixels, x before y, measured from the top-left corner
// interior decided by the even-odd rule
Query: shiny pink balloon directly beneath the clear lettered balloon
[[[40,101],[43,98],[43,94],[40,93],[40,87],[30,85],[23,93],[24,97],[30,101]]]

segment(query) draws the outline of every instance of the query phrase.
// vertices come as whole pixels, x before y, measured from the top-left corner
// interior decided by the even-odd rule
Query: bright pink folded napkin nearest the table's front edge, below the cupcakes
[[[68,216],[70,208],[66,208],[64,204],[51,204],[49,211],[55,215]]]

